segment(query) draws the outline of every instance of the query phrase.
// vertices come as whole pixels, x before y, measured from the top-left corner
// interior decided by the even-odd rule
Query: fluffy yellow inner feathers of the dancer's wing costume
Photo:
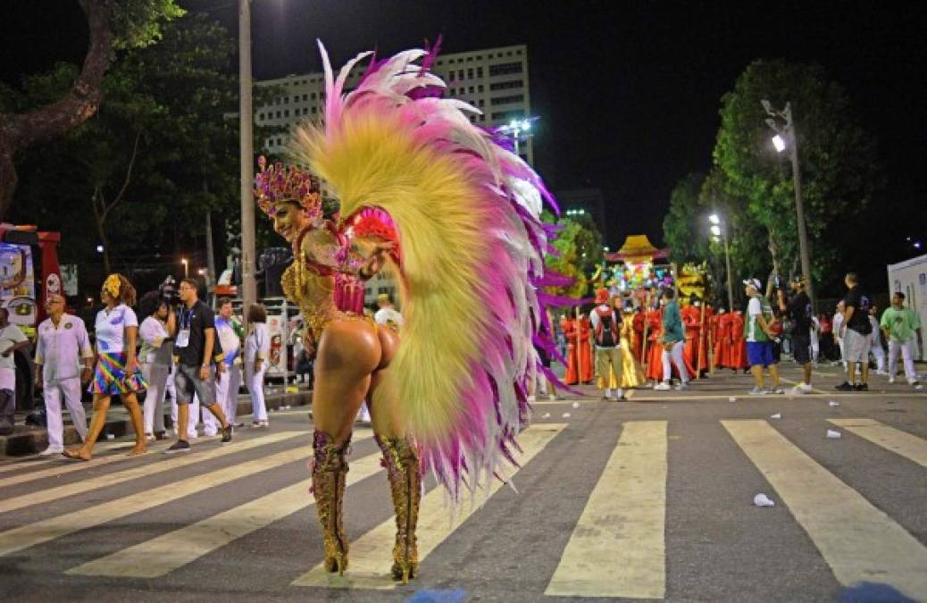
[[[382,112],[350,110],[327,133],[300,128],[292,151],[335,189],[342,216],[376,206],[395,220],[404,324],[391,366],[410,429],[441,443],[462,412],[459,397],[490,324],[474,289],[489,263],[488,235],[464,164],[416,147],[405,127]]]

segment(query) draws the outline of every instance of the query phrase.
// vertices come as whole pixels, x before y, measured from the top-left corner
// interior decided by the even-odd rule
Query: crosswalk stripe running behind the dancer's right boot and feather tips
[[[518,436],[518,443],[524,451],[522,455],[517,456],[519,464],[522,467],[527,465],[565,427],[566,425],[561,423],[539,423],[523,431]],[[514,469],[513,475],[514,473],[517,473],[517,469]],[[486,497],[489,498],[498,492],[503,485],[505,484],[502,481],[493,481],[489,485]],[[451,524],[448,521],[444,490],[435,488],[425,494],[419,507],[416,531],[419,561],[424,560],[431,551],[459,528],[476,511],[476,508],[462,507]],[[293,585],[327,588],[395,588],[396,582],[388,573],[392,565],[395,534],[396,523],[393,518],[390,518],[351,543],[348,571],[344,576],[325,571],[320,563],[298,577]]]

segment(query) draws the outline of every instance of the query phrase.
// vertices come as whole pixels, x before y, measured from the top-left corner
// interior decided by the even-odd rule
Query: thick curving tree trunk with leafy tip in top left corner
[[[19,181],[16,155],[37,142],[63,135],[94,115],[114,51],[153,43],[165,19],[184,14],[174,0],[80,0],[80,5],[87,17],[90,45],[70,88],[27,112],[0,113],[0,219],[6,216]]]

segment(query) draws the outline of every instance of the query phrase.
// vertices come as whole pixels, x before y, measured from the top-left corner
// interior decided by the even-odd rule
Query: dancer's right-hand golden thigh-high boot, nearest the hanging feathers
[[[418,571],[418,547],[415,542],[415,524],[418,506],[422,500],[422,475],[419,471],[418,452],[408,438],[375,436],[383,450],[384,464],[389,478],[389,489],[396,508],[396,545],[393,546],[393,579],[403,584],[415,577]]]

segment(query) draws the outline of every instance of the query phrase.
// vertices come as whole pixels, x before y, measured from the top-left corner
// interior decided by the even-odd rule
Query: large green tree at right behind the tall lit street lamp
[[[850,227],[859,224],[881,181],[874,139],[860,127],[843,88],[818,66],[757,60],[722,98],[715,164],[729,194],[745,201],[748,222],[756,223],[751,228],[766,231],[778,274],[798,266],[794,186],[790,164],[771,147],[762,99],[792,105],[812,273],[827,284],[852,240]]]

